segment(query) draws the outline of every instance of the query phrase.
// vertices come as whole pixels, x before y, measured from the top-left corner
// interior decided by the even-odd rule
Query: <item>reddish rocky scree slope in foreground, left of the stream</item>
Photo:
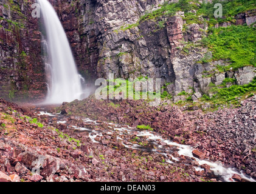
[[[207,166],[196,170],[199,164],[193,159],[189,164],[170,164],[162,155],[126,149],[116,133],[109,135],[107,122],[92,125],[67,116],[67,127],[57,122],[49,125],[50,119],[1,99],[0,181],[216,181],[208,175]],[[102,140],[94,143],[88,132],[78,132],[71,125],[91,125],[102,132]],[[128,141],[136,134],[122,138]]]

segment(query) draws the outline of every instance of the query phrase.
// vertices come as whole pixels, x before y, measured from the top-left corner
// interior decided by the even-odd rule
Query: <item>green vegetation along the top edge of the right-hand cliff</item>
[[[220,3],[223,8],[223,17],[222,18],[215,18],[214,13],[217,8],[215,8],[215,4]],[[199,6],[198,6],[199,5]],[[184,12],[184,20],[187,24],[192,23],[202,23],[208,22],[209,24],[215,24],[218,22],[224,21],[234,21],[234,16],[238,13],[246,12],[249,10],[254,10],[256,8],[256,1],[255,0],[227,0],[227,1],[220,1],[220,0],[213,0],[212,3],[204,1],[200,4],[199,1],[190,1],[190,0],[180,0],[176,3],[168,3],[165,2],[163,5],[160,6],[159,9],[154,10],[153,12],[147,11],[145,15],[141,16],[137,25],[140,21],[144,21],[147,19],[155,19],[159,18],[160,16],[167,15],[173,16],[176,12],[182,11]],[[195,10],[193,12],[192,10]],[[204,19],[204,21],[199,19],[199,16],[204,18],[209,18],[209,20]],[[132,28],[137,26],[135,24],[131,24],[126,29]]]

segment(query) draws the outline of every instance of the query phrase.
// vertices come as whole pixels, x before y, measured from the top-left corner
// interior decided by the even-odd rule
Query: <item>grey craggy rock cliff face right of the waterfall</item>
[[[92,84],[94,79],[91,78],[108,78],[108,73],[125,79],[161,78],[162,86],[174,96],[175,102],[185,99],[178,95],[182,91],[193,94],[196,101],[203,94],[213,95],[210,83],[219,85],[225,78],[234,78],[237,80],[235,84],[243,85],[256,75],[255,67],[209,73],[216,69],[216,65],[224,67],[230,63],[225,60],[199,62],[212,55],[200,44],[207,35],[206,22],[186,24],[184,12],[140,19],[161,7],[164,1],[52,3],[58,6],[80,73]],[[204,19],[199,18],[199,21]],[[237,15],[235,24],[251,25],[254,22],[255,11],[252,10]],[[229,25],[229,22],[223,22],[215,27]]]

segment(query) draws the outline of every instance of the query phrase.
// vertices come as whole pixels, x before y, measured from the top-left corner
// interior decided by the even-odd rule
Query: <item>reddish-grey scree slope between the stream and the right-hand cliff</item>
[[[167,139],[193,146],[212,161],[221,161],[256,177],[256,96],[242,101],[238,108],[208,112],[165,102],[152,107],[142,100],[103,101],[94,96],[64,103],[60,110],[63,114],[133,127],[149,125]]]

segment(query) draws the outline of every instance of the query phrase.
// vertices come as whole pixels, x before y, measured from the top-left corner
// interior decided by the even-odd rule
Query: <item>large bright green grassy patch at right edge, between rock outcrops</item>
[[[241,25],[212,28],[212,34],[202,43],[212,51],[212,59],[229,59],[231,64],[224,67],[233,70],[246,65],[256,67],[256,28]]]

